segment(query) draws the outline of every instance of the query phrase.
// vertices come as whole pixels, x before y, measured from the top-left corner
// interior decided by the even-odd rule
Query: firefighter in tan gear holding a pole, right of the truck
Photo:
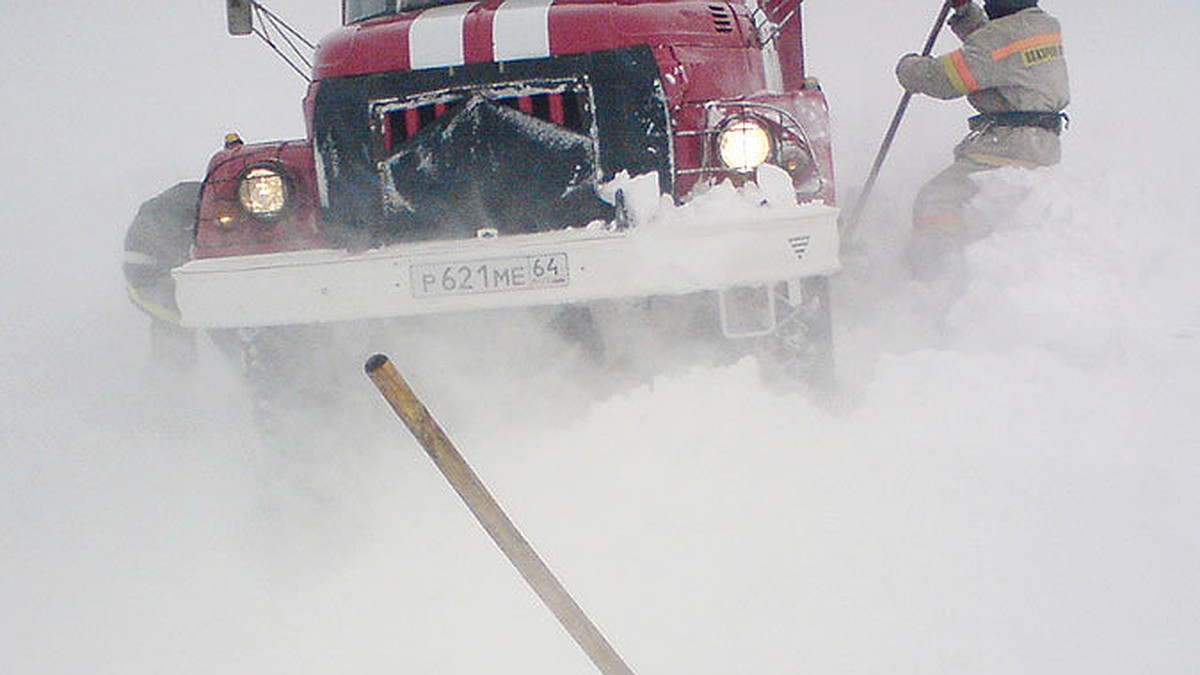
[[[954,251],[988,233],[976,214],[965,214],[979,191],[972,174],[1058,163],[1069,100],[1061,29],[1038,0],[985,0],[983,7],[948,1],[954,8],[949,26],[962,47],[936,58],[908,54],[896,65],[906,91],[966,96],[978,110],[954,148],[954,163],[917,195],[907,257],[920,279],[938,274]]]

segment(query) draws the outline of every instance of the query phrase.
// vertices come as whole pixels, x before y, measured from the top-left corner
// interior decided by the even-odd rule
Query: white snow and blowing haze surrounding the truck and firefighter
[[[908,205],[967,114],[914,101],[872,271],[835,286],[834,410],[751,362],[584,405],[546,372],[562,345],[494,364],[464,325],[394,352],[636,671],[1200,671],[1200,10],[1043,6],[1066,161],[989,178],[1003,222],[961,287],[910,282]],[[846,203],[936,10],[806,4]],[[118,264],[138,204],[227,131],[302,135],[300,79],[223,24],[145,0],[0,22],[0,671],[592,673],[365,378],[362,437],[281,458],[211,350],[152,371]]]

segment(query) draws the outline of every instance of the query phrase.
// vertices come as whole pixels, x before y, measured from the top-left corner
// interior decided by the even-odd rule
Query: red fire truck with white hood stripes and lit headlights
[[[228,10],[234,34],[275,17]],[[305,73],[306,138],[229,135],[139,211],[125,270],[156,334],[263,352],[296,327],[676,304],[828,376],[838,209],[800,0],[343,0],[342,19]]]

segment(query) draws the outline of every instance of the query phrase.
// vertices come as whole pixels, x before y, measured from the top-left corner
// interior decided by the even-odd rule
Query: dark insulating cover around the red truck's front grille
[[[464,239],[612,220],[602,185],[673,147],[648,47],[319,83],[313,106],[332,245]]]

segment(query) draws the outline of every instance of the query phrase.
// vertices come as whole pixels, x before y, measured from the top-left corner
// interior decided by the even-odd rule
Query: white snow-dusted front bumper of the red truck
[[[838,209],[192,261],[185,325],[233,328],[671,295],[828,275]]]

